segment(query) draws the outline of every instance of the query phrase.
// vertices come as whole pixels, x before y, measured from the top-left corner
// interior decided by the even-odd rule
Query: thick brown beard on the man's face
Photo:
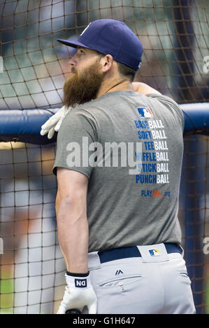
[[[76,72],[73,77],[66,80],[64,83],[64,105],[76,107],[96,98],[103,81],[103,74],[99,71],[99,66],[99,61],[96,61],[81,73]]]

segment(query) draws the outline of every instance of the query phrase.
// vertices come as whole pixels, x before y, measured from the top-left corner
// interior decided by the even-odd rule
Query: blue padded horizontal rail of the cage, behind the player
[[[209,135],[209,103],[180,105],[185,118],[184,135]],[[36,110],[1,110],[0,141],[19,141],[31,144],[49,144],[57,140],[57,133],[52,139],[41,136],[41,126],[58,109]]]

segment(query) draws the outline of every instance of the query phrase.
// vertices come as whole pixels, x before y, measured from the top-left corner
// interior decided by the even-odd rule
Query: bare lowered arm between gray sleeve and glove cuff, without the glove
[[[66,269],[85,274],[88,272],[88,178],[80,172],[57,167],[57,181],[57,230]]]

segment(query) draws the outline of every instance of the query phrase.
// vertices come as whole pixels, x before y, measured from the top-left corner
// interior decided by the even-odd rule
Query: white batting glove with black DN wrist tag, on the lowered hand
[[[66,274],[65,278],[67,285],[57,314],[65,314],[71,308],[78,308],[82,312],[85,306],[89,314],[96,314],[97,300],[90,276],[75,277]]]

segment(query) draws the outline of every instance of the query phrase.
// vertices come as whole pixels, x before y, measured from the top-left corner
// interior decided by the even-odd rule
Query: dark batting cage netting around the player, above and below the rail
[[[13,110],[62,107],[71,50],[57,38],[77,38],[99,18],[123,20],[143,43],[136,81],[180,104],[209,100],[206,0],[0,0],[0,13],[0,126],[14,125]],[[55,147],[0,142],[1,313],[55,313],[63,297]],[[179,218],[197,313],[209,313],[208,151],[208,136],[185,136]]]

